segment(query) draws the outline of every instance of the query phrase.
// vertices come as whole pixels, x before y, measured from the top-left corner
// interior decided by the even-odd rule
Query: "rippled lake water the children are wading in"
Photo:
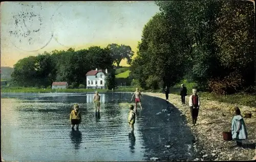
[[[93,95],[1,94],[3,159],[143,161],[151,157],[166,158],[166,151],[171,160],[194,158],[191,150],[193,136],[185,126],[185,119],[165,100],[143,96],[143,110],[137,116],[134,136],[131,136],[127,123],[129,107],[119,105],[130,102],[132,94],[100,94],[100,118],[95,117]],[[69,115],[75,103],[80,105],[82,123],[79,130],[72,131]]]

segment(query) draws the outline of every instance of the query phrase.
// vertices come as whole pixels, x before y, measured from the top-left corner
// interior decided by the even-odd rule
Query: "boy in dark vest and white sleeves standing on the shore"
[[[190,106],[190,112],[192,116],[193,125],[197,124],[197,117],[199,112],[199,106],[200,106],[200,98],[197,95],[197,90],[192,90],[193,95],[189,97],[189,106]]]

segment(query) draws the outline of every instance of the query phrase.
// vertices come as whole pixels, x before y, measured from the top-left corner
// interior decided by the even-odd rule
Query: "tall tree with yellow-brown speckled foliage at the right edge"
[[[219,28],[214,35],[219,48],[218,58],[225,69],[219,81],[224,81],[225,76],[232,76],[232,81],[229,79],[230,85],[243,80],[231,92],[255,83],[254,77],[251,77],[255,75],[254,20],[252,3],[230,1],[221,7],[217,21]]]

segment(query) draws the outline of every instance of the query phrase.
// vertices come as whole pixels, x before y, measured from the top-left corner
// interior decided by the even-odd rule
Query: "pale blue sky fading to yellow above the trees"
[[[53,49],[122,43],[136,50],[158,11],[154,1],[1,3],[1,66]]]

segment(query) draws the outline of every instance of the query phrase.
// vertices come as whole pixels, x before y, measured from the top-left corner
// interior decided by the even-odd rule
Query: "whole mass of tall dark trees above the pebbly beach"
[[[155,1],[132,62],[144,89],[193,80],[218,94],[255,92],[253,4],[246,1]]]

